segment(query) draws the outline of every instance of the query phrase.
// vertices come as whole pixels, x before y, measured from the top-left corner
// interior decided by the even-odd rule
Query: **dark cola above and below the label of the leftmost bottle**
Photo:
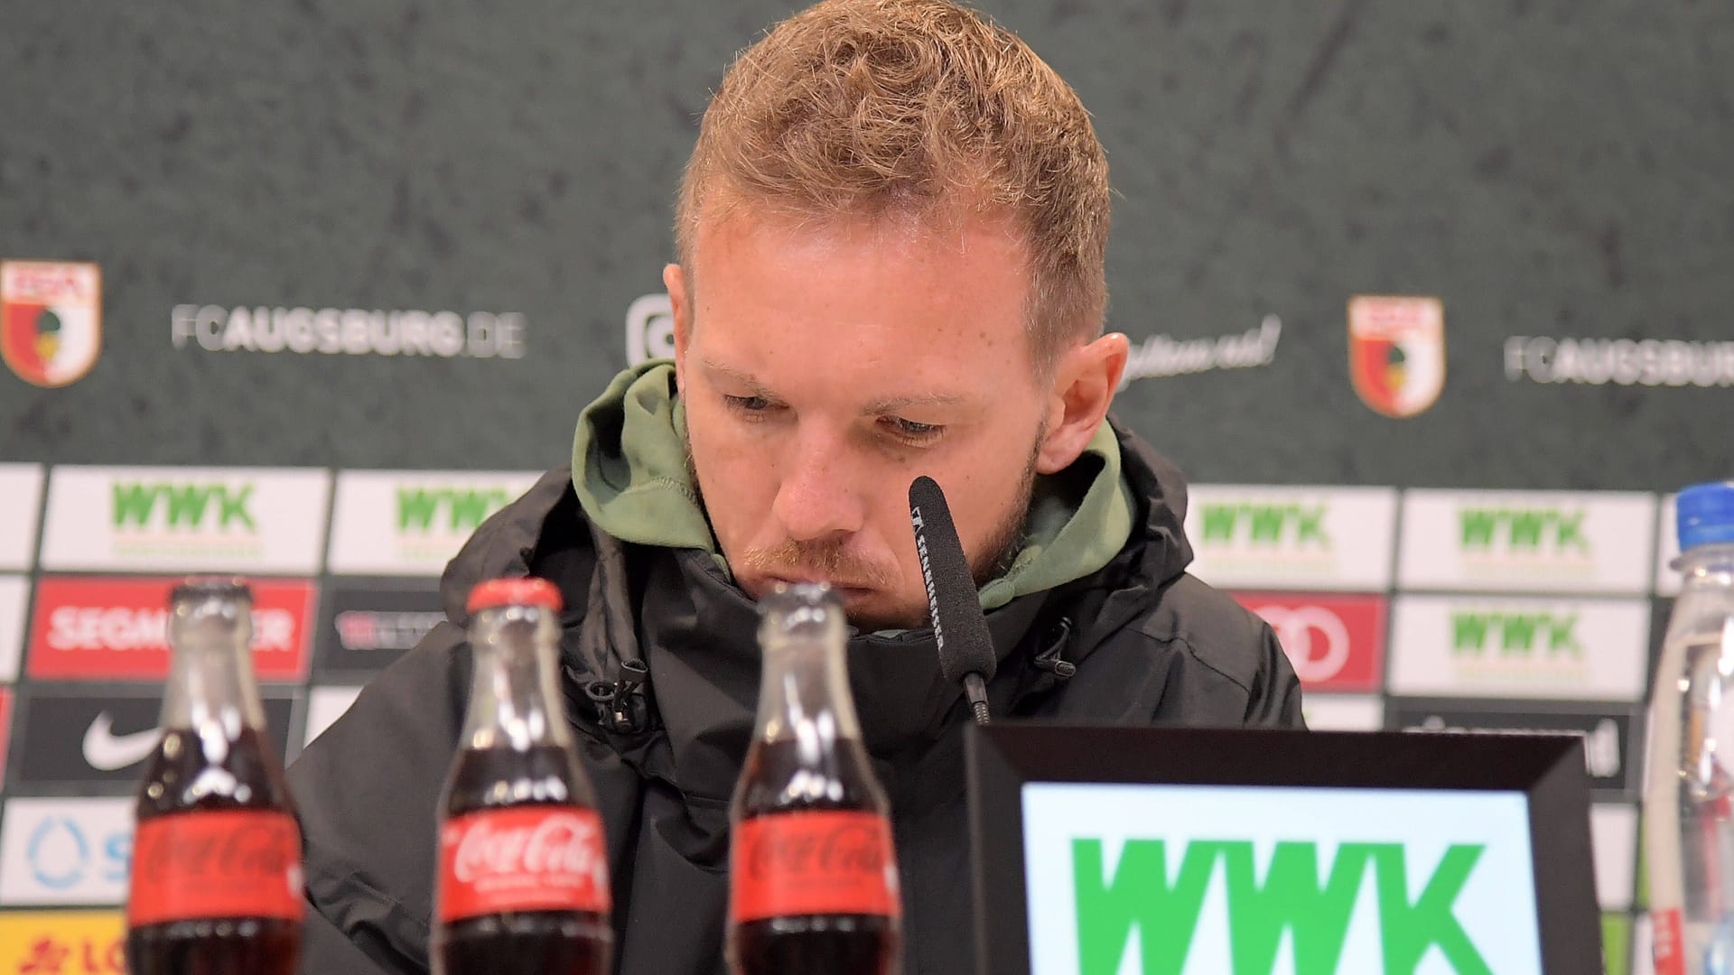
[[[210,774],[220,770],[225,774]],[[187,786],[199,782],[199,795]],[[212,760],[192,729],[168,729],[144,774],[139,822],[199,810],[257,808],[293,814],[283,767],[255,729],[243,727],[227,753]],[[189,972],[293,975],[302,958],[302,925],[283,918],[206,918],[146,925],[127,932],[130,975]]]

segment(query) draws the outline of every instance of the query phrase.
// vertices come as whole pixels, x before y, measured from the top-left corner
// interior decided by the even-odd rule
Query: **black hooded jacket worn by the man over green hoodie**
[[[1138,507],[1105,569],[988,614],[995,717],[1300,725],[1276,637],[1184,573],[1181,475],[1120,434]],[[307,850],[307,975],[427,972],[435,803],[470,689],[465,597],[536,574],[565,595],[562,670],[607,824],[617,972],[723,970],[728,800],[753,730],[753,602],[699,550],[626,545],[565,470],[489,519],[446,569],[449,621],[369,684],[290,769]],[[973,972],[962,696],[933,633],[857,635],[850,680],[891,800],[907,975]]]

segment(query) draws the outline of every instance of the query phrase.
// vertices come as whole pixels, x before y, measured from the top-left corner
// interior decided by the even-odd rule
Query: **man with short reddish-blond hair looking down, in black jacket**
[[[758,689],[754,597],[838,586],[891,798],[905,972],[973,972],[961,692],[907,510],[940,482],[978,576],[999,717],[1299,725],[1271,630],[1184,574],[1184,484],[1105,422],[1106,160],[1077,95],[945,0],[836,0],[744,52],[681,186],[675,363],[616,378],[572,468],[484,524],[449,623],[290,772],[309,973],[427,965],[434,808],[470,678],[463,600],[569,604],[567,701],[600,795],[617,966],[721,970],[728,796]]]

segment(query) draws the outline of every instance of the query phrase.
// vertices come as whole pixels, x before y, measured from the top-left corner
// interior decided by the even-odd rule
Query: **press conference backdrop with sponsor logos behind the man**
[[[1642,965],[1668,493],[1734,474],[1725,3],[1002,0],[1113,168],[1117,415],[1314,727],[1585,737]],[[695,120],[786,2],[7,3],[0,972],[118,972],[182,571],[293,756],[668,352]],[[31,968],[31,965],[35,968]]]

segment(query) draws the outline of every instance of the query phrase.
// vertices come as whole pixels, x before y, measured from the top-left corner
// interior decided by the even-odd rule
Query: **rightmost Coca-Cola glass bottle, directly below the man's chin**
[[[843,604],[801,583],[761,612],[758,723],[730,808],[728,968],[893,975],[896,855],[843,666]]]

